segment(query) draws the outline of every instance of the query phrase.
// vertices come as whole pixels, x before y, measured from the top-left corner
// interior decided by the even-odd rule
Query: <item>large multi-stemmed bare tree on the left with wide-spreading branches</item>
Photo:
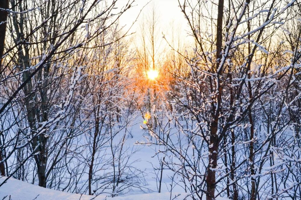
[[[93,48],[93,38],[112,27],[132,3],[129,1],[115,13],[116,1],[109,4],[96,0],[11,1],[10,37],[5,38],[9,45],[1,67],[4,103],[0,115],[5,119],[8,113],[16,115],[17,112],[17,116],[5,120],[8,129],[1,128],[2,134],[8,136],[2,141],[2,152],[9,152],[1,163],[22,148],[29,148],[31,153],[12,168],[8,177],[33,156],[39,185],[46,187],[48,176],[61,161],[58,159],[62,156],[60,153],[66,153],[62,151],[68,144],[66,137],[72,137],[72,132],[65,135],[66,132],[58,127],[73,124],[73,120],[66,121],[71,124],[61,122],[73,112],[69,108],[85,67],[85,52]],[[96,22],[99,26],[92,31],[90,26]],[[16,98],[18,101],[14,101]],[[11,135],[15,127],[19,127],[18,131]],[[58,144],[62,148],[57,151]],[[53,160],[49,160],[52,156]]]

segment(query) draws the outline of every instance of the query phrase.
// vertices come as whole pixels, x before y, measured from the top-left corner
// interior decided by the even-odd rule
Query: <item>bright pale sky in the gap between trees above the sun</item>
[[[126,5],[127,2],[128,0],[119,0],[116,2],[116,7],[121,9],[124,5]],[[124,31],[128,30],[132,23],[136,20],[141,9],[145,6],[138,17],[137,22],[135,22],[134,26],[129,31],[129,33],[136,32],[134,35],[132,35],[132,37],[135,40],[133,45],[136,44],[139,46],[139,43],[141,42],[140,28],[141,26],[143,26],[142,24],[145,23],[144,17],[148,18],[147,16],[151,14],[152,8],[154,6],[155,14],[158,18],[155,36],[156,66],[160,66],[159,62],[164,60],[164,57],[166,56],[165,53],[168,53],[168,51],[172,49],[168,46],[166,40],[169,42],[170,45],[172,45],[173,48],[177,50],[178,48],[182,48],[183,45],[187,46],[189,39],[192,39],[192,37],[187,37],[187,31],[189,30],[188,23],[184,17],[184,14],[179,8],[178,0],[136,0],[134,5],[135,6],[130,8],[119,18],[119,25],[125,26]],[[165,35],[166,40],[163,39],[163,34]],[[171,39],[172,35],[175,39],[173,44]],[[180,44],[178,44],[178,42]]]

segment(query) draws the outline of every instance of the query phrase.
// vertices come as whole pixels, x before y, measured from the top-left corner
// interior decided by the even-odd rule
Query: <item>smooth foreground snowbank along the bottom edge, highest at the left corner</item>
[[[0,183],[5,180],[6,177],[0,178]],[[177,193],[172,194],[172,199]],[[187,194],[182,193],[175,200],[183,200]],[[6,196],[6,198],[5,198]],[[8,181],[0,188],[0,199],[4,200],[168,200],[170,198],[169,192],[164,193],[149,193],[149,194],[138,194],[138,195],[124,195],[118,197],[106,197],[106,195],[89,196],[72,194],[68,192],[60,192],[53,189],[43,188],[37,185],[23,182],[14,178],[8,179]],[[191,199],[191,198],[186,198]],[[217,198],[217,200],[226,200],[225,198]]]

